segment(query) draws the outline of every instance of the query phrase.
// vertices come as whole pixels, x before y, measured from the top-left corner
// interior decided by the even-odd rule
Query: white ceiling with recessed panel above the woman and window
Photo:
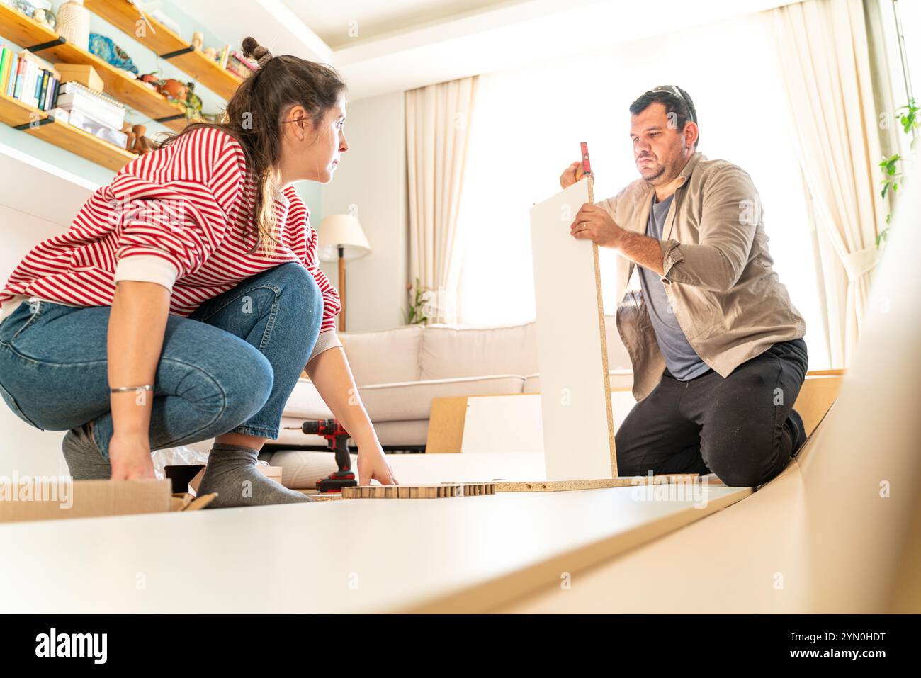
[[[354,101],[551,59],[576,64],[606,44],[798,1],[199,0],[182,9],[227,42],[252,35],[275,54],[332,64]]]

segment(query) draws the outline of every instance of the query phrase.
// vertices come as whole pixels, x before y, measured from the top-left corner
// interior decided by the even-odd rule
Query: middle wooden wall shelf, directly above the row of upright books
[[[125,4],[127,5],[127,3]],[[0,35],[29,49],[29,52],[35,53],[52,64],[87,64],[93,66],[102,78],[103,90],[106,94],[145,115],[149,115],[154,120],[160,120],[162,124],[171,130],[181,131],[187,124],[184,108],[180,103],[169,101],[169,99],[147,87],[140,80],[134,79],[121,69],[106,63],[96,54],[89,53],[76,45],[64,41],[64,38],[61,38],[52,29],[3,4],[0,4]],[[43,43],[53,44],[44,49],[31,49],[33,46]],[[171,121],[162,120],[176,115],[182,117]]]

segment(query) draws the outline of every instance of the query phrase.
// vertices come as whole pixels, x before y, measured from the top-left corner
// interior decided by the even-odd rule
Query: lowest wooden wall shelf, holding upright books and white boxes
[[[137,158],[134,153],[124,148],[110,144],[72,124],[56,121],[44,111],[39,111],[19,99],[0,94],[0,121],[16,127],[29,124],[33,120],[45,122],[34,127],[27,127],[23,132],[37,136],[54,146],[60,146],[66,151],[76,153],[78,156],[92,160],[113,171],[122,169],[127,163]]]

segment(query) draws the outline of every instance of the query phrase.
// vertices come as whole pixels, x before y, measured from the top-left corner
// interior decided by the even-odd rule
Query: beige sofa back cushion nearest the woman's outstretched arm
[[[339,339],[357,386],[419,379],[420,325],[379,332],[342,332]]]

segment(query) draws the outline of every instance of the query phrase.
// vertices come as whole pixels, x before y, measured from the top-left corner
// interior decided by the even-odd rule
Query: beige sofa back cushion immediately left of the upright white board
[[[537,371],[537,325],[428,325],[422,333],[419,368],[421,380],[531,374]]]

